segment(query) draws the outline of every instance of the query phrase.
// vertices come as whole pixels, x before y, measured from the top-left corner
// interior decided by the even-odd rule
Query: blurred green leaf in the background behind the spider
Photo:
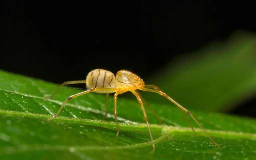
[[[255,52],[255,34],[236,32],[227,42],[174,59],[145,82],[188,109],[225,112],[256,95]],[[143,95],[153,103],[169,104],[161,96]]]

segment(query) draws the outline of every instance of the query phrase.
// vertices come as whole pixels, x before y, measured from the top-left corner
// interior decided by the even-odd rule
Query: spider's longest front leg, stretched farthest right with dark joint
[[[182,109],[183,111],[185,111],[188,115],[190,115],[190,117],[197,123],[197,125],[205,132],[205,134],[210,138],[210,140],[212,141],[212,143],[214,143],[218,148],[220,148],[220,146],[211,138],[211,136],[207,133],[207,131],[200,125],[200,123],[198,123],[198,121],[195,119],[195,117],[186,109],[184,108],[182,105],[180,105],[179,103],[177,103],[175,100],[173,100],[171,97],[169,97],[166,93],[164,93],[163,91],[159,91],[159,90],[155,90],[155,89],[149,89],[149,88],[139,88],[142,91],[148,91],[148,92],[155,92],[158,93],[160,95],[163,95],[165,98],[167,98],[169,101],[173,102],[175,105],[177,105],[180,109]]]

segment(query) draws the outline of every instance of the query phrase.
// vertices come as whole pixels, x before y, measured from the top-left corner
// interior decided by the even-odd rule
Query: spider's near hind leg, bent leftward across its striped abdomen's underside
[[[61,105],[59,111],[55,114],[55,116],[49,118],[48,121],[51,120],[51,119],[56,118],[56,117],[59,115],[60,111],[63,109],[63,107],[65,106],[65,104],[68,102],[68,100],[70,100],[70,99],[72,99],[72,98],[75,98],[75,97],[78,97],[78,96],[80,96],[80,95],[84,95],[84,94],[87,94],[87,93],[90,93],[90,92],[93,92],[93,91],[97,91],[97,90],[117,91],[117,89],[110,89],[110,88],[92,88],[92,89],[89,89],[89,90],[86,90],[86,91],[83,91],[83,92],[80,92],[80,93],[71,95],[71,96],[69,96],[69,97],[62,103],[62,105]]]

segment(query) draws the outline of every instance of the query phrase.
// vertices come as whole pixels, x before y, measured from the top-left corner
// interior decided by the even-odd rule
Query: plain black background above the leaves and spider
[[[4,1],[0,69],[46,81],[95,68],[142,78],[236,30],[256,32],[256,1]],[[154,56],[157,53],[157,56]],[[168,55],[168,56],[166,56]],[[256,101],[239,105],[247,111]]]

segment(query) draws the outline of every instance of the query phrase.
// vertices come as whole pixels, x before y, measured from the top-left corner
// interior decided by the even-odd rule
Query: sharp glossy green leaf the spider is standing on
[[[217,148],[189,118],[196,126],[194,135],[171,102],[150,104],[164,123],[147,111],[156,144],[152,153],[135,97],[118,99],[116,138],[113,97],[105,120],[104,95],[90,93],[71,99],[58,118],[46,121],[65,98],[81,90],[63,88],[53,99],[43,100],[59,85],[4,71],[0,80],[0,159],[255,159],[255,119],[191,112],[220,145]]]

